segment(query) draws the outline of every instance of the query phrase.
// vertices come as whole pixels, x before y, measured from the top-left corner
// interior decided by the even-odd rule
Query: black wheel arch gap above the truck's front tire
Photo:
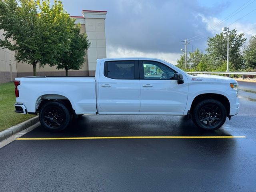
[[[217,94],[217,93],[205,93],[205,94],[200,94],[200,95],[196,96],[191,104],[190,114],[193,114],[193,110],[194,110],[196,104],[198,104],[202,100],[206,100],[206,99],[215,99],[215,100],[218,100],[219,102],[221,102],[225,106],[227,115],[229,116],[230,102],[229,102],[228,98],[222,94]]]

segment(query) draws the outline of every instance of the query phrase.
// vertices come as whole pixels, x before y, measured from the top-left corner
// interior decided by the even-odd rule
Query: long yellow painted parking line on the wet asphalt
[[[246,138],[246,136],[125,136],[125,137],[56,137],[56,138],[17,138],[16,140],[72,140],[72,139],[160,139],[160,138]]]

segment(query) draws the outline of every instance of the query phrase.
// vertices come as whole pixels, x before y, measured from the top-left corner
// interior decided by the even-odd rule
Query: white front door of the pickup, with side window
[[[175,71],[163,63],[140,61],[140,112],[183,114],[188,83],[177,83]]]

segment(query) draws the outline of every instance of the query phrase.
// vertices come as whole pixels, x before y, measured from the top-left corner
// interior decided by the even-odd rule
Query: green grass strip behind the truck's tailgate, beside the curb
[[[0,131],[34,117],[34,115],[15,113],[13,105],[15,102],[14,83],[0,84]]]

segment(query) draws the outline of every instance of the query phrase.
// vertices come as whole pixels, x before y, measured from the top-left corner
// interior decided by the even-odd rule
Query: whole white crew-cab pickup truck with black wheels
[[[155,58],[98,59],[95,77],[15,79],[15,112],[39,113],[44,128],[60,131],[83,114],[187,115],[206,130],[239,110],[232,78],[189,75]]]

